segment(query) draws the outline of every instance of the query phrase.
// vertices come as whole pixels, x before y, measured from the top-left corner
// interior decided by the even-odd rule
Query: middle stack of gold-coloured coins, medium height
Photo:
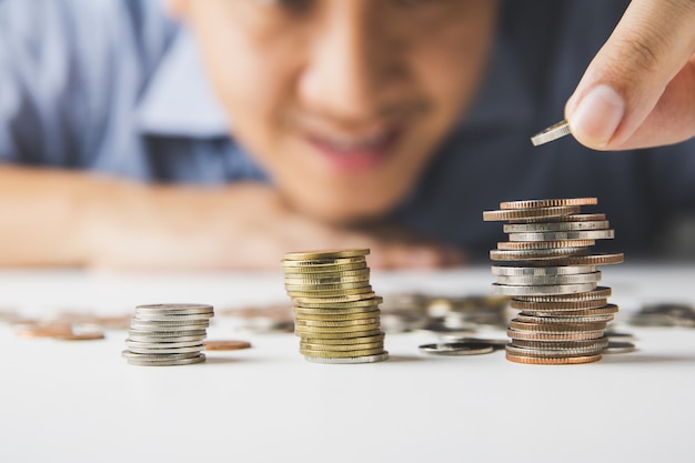
[[[284,285],[294,301],[300,353],[316,363],[372,363],[384,351],[379,304],[370,285],[367,249],[290,252]]]

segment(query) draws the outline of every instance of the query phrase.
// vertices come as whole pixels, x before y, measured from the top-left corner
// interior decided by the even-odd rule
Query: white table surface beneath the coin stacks
[[[605,266],[623,316],[695,303],[695,263]],[[484,294],[488,268],[374,273],[379,294]],[[285,302],[282,274],[0,271],[0,308],[121,314],[138,304]],[[391,360],[306,362],[292,334],[215,321],[253,348],[178,368],[129,365],[125,331],[64,342],[0,325],[0,462],[695,462],[695,330],[627,330],[638,352],[535,366],[502,352],[433,358],[426,334],[386,338]]]

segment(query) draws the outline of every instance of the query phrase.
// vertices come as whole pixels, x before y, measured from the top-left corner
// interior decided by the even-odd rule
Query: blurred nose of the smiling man
[[[300,99],[341,122],[379,119],[403,76],[397,43],[379,30],[367,2],[329,3],[339,6],[324,13],[312,38],[299,78]]]

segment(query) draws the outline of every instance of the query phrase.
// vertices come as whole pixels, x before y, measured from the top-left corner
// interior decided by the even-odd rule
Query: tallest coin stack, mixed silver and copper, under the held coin
[[[596,198],[511,201],[483,220],[506,220],[508,242],[490,258],[493,294],[512,296],[521,310],[507,331],[506,358],[517,363],[574,364],[601,360],[606,324],[617,306],[598,286],[597,265],[623,262],[622,253],[591,254],[595,240],[614,238],[605,214],[580,213]]]

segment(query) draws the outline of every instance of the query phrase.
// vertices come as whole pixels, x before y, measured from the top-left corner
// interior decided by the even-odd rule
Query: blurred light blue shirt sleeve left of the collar
[[[170,40],[161,3],[0,0],[0,162],[98,163]]]

